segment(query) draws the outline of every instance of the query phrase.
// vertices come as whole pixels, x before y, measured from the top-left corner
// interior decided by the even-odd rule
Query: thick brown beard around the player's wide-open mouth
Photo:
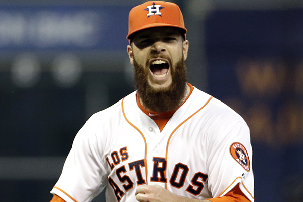
[[[144,69],[134,60],[135,87],[139,92],[142,105],[155,112],[169,112],[176,110],[185,95],[187,71],[183,57],[177,62],[175,68],[170,67],[172,83],[169,87],[155,90],[148,83],[149,68]]]

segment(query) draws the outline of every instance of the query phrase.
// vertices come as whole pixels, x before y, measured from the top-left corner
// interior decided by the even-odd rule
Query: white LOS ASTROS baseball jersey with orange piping
[[[94,114],[79,130],[52,189],[67,202],[135,202],[136,188],[160,185],[181,196],[223,196],[239,183],[254,201],[249,128],[231,108],[194,88],[160,132],[136,92]]]

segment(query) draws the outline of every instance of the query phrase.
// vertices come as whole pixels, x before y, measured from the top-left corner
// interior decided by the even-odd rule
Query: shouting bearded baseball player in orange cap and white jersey
[[[54,201],[254,201],[249,128],[231,108],[187,83],[182,13],[151,1],[129,13],[136,91],[77,133]]]

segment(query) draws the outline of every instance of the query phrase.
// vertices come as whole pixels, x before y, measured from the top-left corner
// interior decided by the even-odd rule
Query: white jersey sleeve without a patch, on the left
[[[104,189],[107,177],[99,141],[88,120],[73,141],[52,194],[66,202],[91,201]]]

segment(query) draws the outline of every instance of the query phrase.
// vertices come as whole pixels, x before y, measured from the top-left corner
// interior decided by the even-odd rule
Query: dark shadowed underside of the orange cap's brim
[[[181,33],[178,28],[175,27],[152,27],[136,32],[133,39],[135,40],[139,38],[163,37],[170,35],[181,36]]]

